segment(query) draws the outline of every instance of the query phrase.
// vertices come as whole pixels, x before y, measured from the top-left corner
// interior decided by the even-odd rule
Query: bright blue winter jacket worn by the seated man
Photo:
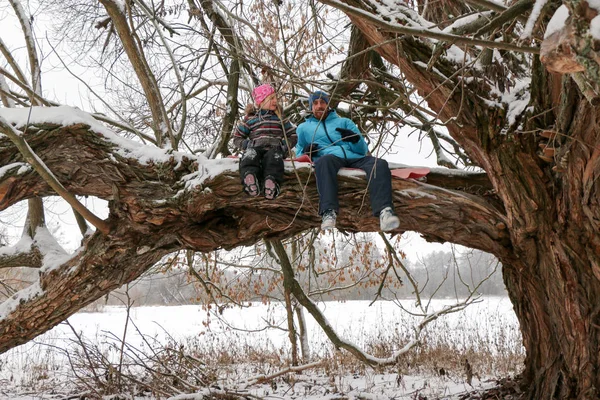
[[[344,142],[342,135],[335,128],[350,129],[356,132],[360,139],[357,143]],[[324,121],[319,121],[311,115],[298,125],[296,134],[298,135],[296,156],[304,154],[304,147],[310,143],[319,145],[319,152],[313,156],[313,160],[326,154],[347,159],[361,158],[367,155],[367,143],[356,124],[348,118],[340,117],[334,110],[329,110]]]

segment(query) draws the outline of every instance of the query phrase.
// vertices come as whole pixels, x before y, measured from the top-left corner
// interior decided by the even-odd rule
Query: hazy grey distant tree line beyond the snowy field
[[[340,264],[343,260],[338,261]],[[467,296],[469,288],[488,296],[504,296],[506,289],[502,280],[502,265],[491,254],[481,251],[467,250],[462,252],[436,251],[419,260],[405,259],[403,261],[414,280],[418,282],[420,296],[425,298],[461,298]],[[330,266],[329,266],[330,267]],[[317,293],[315,299],[330,300],[372,300],[380,289],[380,279],[385,268],[378,267],[370,272],[369,280],[362,285],[346,287],[345,282],[356,279],[357,270],[348,268],[317,268],[317,271],[299,271],[298,279]],[[404,284],[405,278],[388,274],[383,289],[382,299],[406,299],[415,296],[411,285]],[[221,281],[236,282],[245,288],[256,290],[246,291],[246,296],[240,301],[279,301],[281,287],[274,284],[279,276],[271,269],[254,271],[243,275],[239,272],[226,270]],[[332,282],[334,284],[332,284]],[[343,288],[343,289],[342,289]],[[122,305],[126,304],[124,294],[126,288],[113,292],[106,299],[96,304]],[[196,276],[188,269],[175,267],[146,274],[127,288],[133,306],[143,305],[183,305],[210,302],[202,285],[198,284]]]

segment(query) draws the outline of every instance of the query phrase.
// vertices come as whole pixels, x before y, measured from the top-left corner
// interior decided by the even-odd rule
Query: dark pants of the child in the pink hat
[[[242,184],[247,174],[254,174],[259,182],[273,178],[279,186],[283,183],[283,151],[280,146],[249,147],[240,160]]]

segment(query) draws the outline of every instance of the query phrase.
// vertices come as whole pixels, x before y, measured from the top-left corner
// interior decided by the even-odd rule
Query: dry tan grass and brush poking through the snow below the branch
[[[325,360],[325,363],[310,371],[310,375],[305,374],[320,377],[319,385],[332,388],[321,387],[324,391],[343,389],[341,386],[348,376],[368,380],[378,374],[395,374],[400,382],[405,376],[425,375],[468,382],[477,377],[517,374],[524,360],[518,327],[506,322],[501,315],[486,317],[489,326],[483,330],[485,334],[480,326],[482,319],[463,321],[460,329],[443,319],[436,321],[425,331],[421,345],[393,367],[367,367],[349,353],[323,344],[311,350],[315,359]],[[373,356],[389,357],[412,339],[412,331],[406,328],[414,322],[414,318],[407,316],[380,329],[376,336],[367,331],[341,334]],[[21,357],[21,364],[28,365],[28,370],[18,378],[7,378],[9,360],[0,358],[0,379],[4,379],[0,380],[0,387],[28,392],[85,393],[89,398],[107,395],[118,398],[122,394],[167,398],[203,387],[233,387],[249,378],[268,377],[289,366],[287,346],[277,348],[266,339],[249,342],[242,332],[212,338],[164,343],[146,337],[145,345],[137,348],[124,345],[114,335],[93,340],[80,338],[67,348],[42,343],[27,352],[13,354],[13,357]],[[286,374],[277,379],[289,385],[290,379],[300,378]],[[222,395],[238,398],[235,393]]]

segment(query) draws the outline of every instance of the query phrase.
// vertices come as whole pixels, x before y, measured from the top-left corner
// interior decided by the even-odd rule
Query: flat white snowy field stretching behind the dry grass
[[[450,303],[451,300],[434,300],[430,304],[430,311]],[[414,309],[412,301],[405,301],[402,305]],[[319,306],[339,335],[363,348],[368,348],[370,343],[377,340],[384,342],[388,339],[393,341],[394,338],[408,340],[413,335],[413,327],[421,319],[403,312],[392,302],[377,302],[372,306],[369,306],[367,301],[328,302],[320,303]],[[79,340],[78,337],[98,346],[114,360],[118,359],[117,349],[123,337],[127,345],[139,349],[159,348],[169,342],[186,343],[186,345],[193,342],[207,348],[221,347],[229,351],[252,348],[257,351],[289,354],[287,332],[275,328],[286,325],[285,310],[280,304],[253,304],[243,309],[227,308],[219,314],[222,319],[207,313],[200,306],[193,305],[137,307],[130,309],[129,315],[131,319],[126,327],[127,310],[124,307],[106,307],[102,312],[78,313],[69,319],[71,326],[61,324],[37,338],[34,343],[28,343],[1,355],[0,388],[3,386],[11,388],[10,393],[4,391],[5,397],[2,398],[61,398],[31,397],[25,395],[22,388],[30,387],[32,391],[34,388],[39,390],[44,380],[58,382],[61,377],[72,379],[68,378],[65,352],[60,349],[73,346]],[[310,315],[308,313],[305,315],[313,355],[331,355],[332,345]],[[271,328],[266,329],[266,326]],[[124,334],[125,327],[126,334]],[[504,297],[485,297],[481,302],[469,306],[464,311],[443,316],[428,326],[424,339],[428,346],[436,347],[436,344],[439,344],[441,347],[448,347],[452,344],[456,351],[465,354],[485,350],[494,355],[505,352],[507,348],[520,348],[518,325],[512,305]],[[43,376],[39,374],[40,369],[45,371]],[[404,376],[402,384],[398,382],[397,376],[381,374],[375,378],[372,375],[370,385],[372,386],[373,382],[379,379],[378,384],[383,385],[380,390],[377,390],[384,396],[381,399],[394,396],[412,398],[411,393],[414,395],[417,389],[422,390],[420,388],[427,388],[430,396],[435,394],[450,396],[467,389],[472,390],[473,387],[490,385],[483,377],[479,377],[479,380],[475,379],[471,387],[464,383],[464,379],[461,381],[458,375],[454,378],[448,377],[450,379],[448,380],[443,377],[427,376],[428,374],[429,372],[424,371],[423,376]],[[352,379],[356,380],[356,377]],[[436,379],[439,382],[434,384]],[[346,391],[351,388],[358,390],[361,382],[362,385],[369,386],[367,381],[369,379],[361,377],[357,382],[347,383]],[[441,388],[439,385],[442,385]],[[386,389],[388,386],[390,388]],[[388,392],[392,390],[391,388],[394,388],[394,391]],[[367,389],[367,387],[363,388],[363,390]],[[401,392],[398,392],[399,390]],[[2,393],[0,389],[0,396],[3,395]],[[408,397],[400,397],[402,395]],[[283,396],[265,398],[287,399]],[[316,397],[307,395],[293,398],[326,397],[320,394]]]

